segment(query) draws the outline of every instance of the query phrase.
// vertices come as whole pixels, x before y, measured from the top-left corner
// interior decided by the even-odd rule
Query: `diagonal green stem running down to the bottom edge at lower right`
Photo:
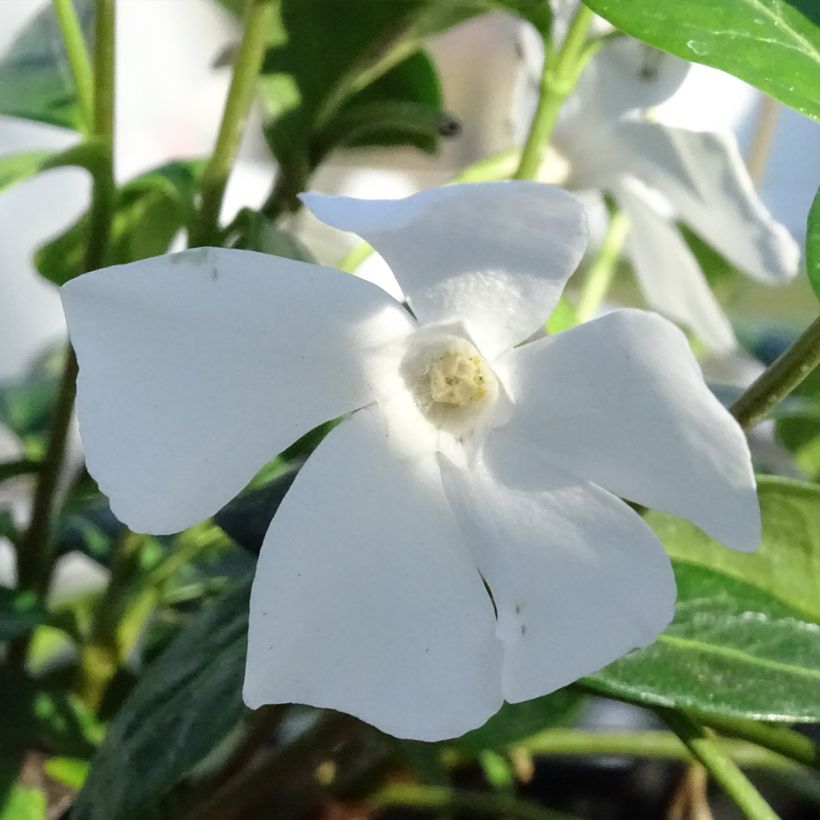
[[[748,820],[778,820],[771,806],[715,742],[708,729],[683,712],[661,709],[658,713]]]

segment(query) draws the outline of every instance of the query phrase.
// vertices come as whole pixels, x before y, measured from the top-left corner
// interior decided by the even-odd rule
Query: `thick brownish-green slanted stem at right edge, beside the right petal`
[[[741,427],[752,427],[820,364],[820,317],[755,379],[731,406]]]

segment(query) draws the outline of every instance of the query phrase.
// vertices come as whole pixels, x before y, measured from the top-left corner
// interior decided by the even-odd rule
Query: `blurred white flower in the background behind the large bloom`
[[[522,42],[528,79],[519,108],[528,122],[543,48],[529,29]],[[730,132],[651,121],[648,109],[678,88],[688,68],[637,40],[607,43],[562,110],[553,139],[559,162],[554,157],[545,173],[573,190],[611,194],[629,217],[626,253],[649,305],[713,350],[730,351],[732,328],[675,220],[764,283],[792,278],[800,250],[755,193]]]

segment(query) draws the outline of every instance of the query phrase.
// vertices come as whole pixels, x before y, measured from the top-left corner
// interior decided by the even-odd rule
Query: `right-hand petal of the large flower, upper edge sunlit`
[[[726,546],[758,545],[743,431],[666,319],[619,310],[503,359],[516,407],[487,448],[505,483],[537,488],[549,472],[546,458],[622,498],[682,516]]]

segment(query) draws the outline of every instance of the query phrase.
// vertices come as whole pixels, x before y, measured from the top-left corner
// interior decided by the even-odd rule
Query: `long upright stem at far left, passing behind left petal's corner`
[[[114,23],[115,0],[97,0],[94,52],[94,117],[92,136],[106,147],[94,176],[89,220],[86,270],[104,264],[111,227],[114,139]],[[68,46],[67,46],[68,48]],[[34,492],[31,522],[18,550],[19,585],[45,594],[54,563],[52,524],[57,485],[65,461],[65,447],[76,393],[77,358],[69,347],[54,405],[51,435]],[[19,652],[16,653],[19,655]],[[24,652],[23,652],[24,654]]]

